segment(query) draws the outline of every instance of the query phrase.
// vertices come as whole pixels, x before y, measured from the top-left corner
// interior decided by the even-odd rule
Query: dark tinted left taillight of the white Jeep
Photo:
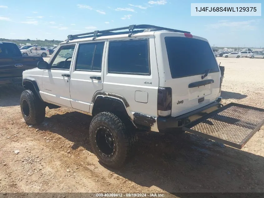
[[[172,114],[172,88],[158,88],[157,109],[159,116],[165,117]]]

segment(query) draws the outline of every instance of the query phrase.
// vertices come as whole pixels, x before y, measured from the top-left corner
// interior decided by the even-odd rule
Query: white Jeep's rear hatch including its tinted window
[[[208,41],[191,34],[160,35],[159,86],[172,89],[171,115],[176,117],[215,101],[220,95],[221,74]]]

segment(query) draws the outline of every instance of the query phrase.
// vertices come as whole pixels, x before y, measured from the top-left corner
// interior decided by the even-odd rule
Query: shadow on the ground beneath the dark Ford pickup
[[[0,107],[20,105],[20,95],[24,90],[22,86],[0,86]]]

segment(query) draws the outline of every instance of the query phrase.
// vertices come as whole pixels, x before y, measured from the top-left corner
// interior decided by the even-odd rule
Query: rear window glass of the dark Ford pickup
[[[10,56],[11,57],[22,56],[17,44],[0,42],[0,57],[10,57]]]

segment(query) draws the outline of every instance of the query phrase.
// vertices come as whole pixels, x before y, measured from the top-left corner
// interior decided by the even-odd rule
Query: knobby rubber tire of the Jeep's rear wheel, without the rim
[[[115,150],[110,157],[100,152],[98,147],[96,135],[100,127],[106,127],[115,139]],[[112,168],[121,167],[129,159],[137,141],[134,131],[126,128],[126,125],[117,115],[109,112],[101,112],[93,117],[89,128],[89,136],[92,149],[97,158],[103,164]]]

